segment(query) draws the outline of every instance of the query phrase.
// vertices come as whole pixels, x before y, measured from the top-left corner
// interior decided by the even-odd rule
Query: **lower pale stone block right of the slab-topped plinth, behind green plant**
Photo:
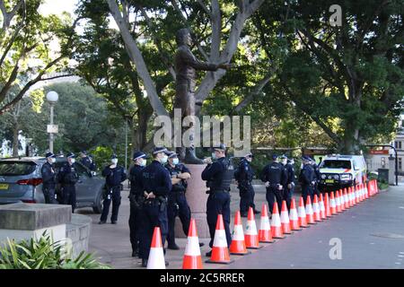
[[[88,252],[88,242],[90,239],[92,219],[81,214],[72,214],[72,220],[66,224],[66,238],[72,240],[73,258],[80,252]]]

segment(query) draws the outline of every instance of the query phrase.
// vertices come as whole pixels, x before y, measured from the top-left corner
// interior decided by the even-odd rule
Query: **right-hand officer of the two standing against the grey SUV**
[[[67,161],[60,168],[58,179],[62,187],[63,204],[72,205],[72,213],[75,213],[75,184],[79,175],[75,169],[75,153],[67,152]]]

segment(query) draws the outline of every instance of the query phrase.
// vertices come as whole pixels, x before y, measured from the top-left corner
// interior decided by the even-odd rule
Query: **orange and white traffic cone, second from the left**
[[[202,269],[202,257],[200,256],[197,223],[191,218],[189,223],[188,241],[182,259],[182,269]]]

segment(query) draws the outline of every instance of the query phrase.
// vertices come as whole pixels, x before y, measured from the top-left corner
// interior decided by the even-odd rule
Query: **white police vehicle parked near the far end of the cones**
[[[326,191],[363,183],[367,170],[363,155],[328,155],[319,168],[319,188]]]

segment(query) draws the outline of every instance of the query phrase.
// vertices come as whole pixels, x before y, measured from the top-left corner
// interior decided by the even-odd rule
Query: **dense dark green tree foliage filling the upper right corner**
[[[267,87],[272,97],[293,103],[340,151],[378,137],[387,142],[402,110],[404,2],[339,2],[340,27],[329,23],[332,1],[280,2],[263,6],[255,19],[268,48],[279,11],[289,11],[287,55]]]

